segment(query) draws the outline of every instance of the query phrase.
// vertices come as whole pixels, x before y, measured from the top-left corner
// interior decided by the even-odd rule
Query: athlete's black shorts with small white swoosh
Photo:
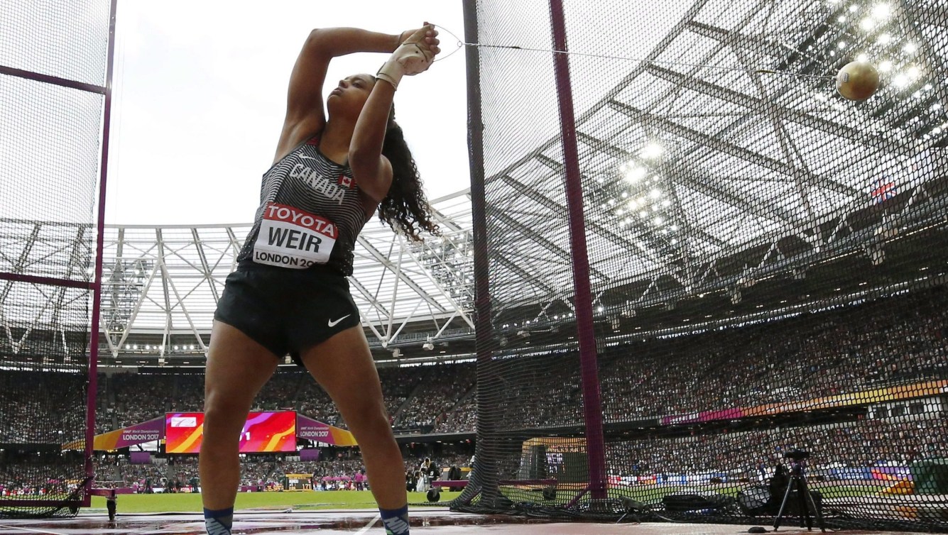
[[[288,353],[300,366],[301,351],[360,323],[349,281],[336,270],[252,261],[241,262],[228,276],[214,319],[241,330],[277,357]]]

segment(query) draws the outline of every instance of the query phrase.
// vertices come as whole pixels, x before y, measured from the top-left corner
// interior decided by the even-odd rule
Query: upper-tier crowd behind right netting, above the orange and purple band
[[[943,378],[946,334],[948,292],[939,287],[768,324],[647,341],[614,352],[603,366],[609,378],[603,388],[606,418],[815,400]]]

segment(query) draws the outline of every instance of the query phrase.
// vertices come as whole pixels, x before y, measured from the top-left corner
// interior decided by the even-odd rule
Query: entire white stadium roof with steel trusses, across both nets
[[[647,60],[570,59],[602,317],[705,294],[739,301],[740,289],[777,273],[803,276],[854,253],[882,262],[884,241],[900,231],[943,225],[948,39],[930,23],[944,20],[933,14],[939,4],[671,5],[670,22],[653,25],[650,37],[618,20],[590,28],[577,18],[568,27],[577,52],[622,50]],[[540,15],[545,20],[543,12],[532,16]],[[510,321],[513,332],[518,321],[572,316],[553,58],[525,50],[548,48],[550,36],[542,25],[522,25],[505,17],[479,36],[507,43],[516,35],[520,49],[478,49],[491,298],[495,322],[502,330]],[[884,40],[886,27],[898,34]],[[880,66],[883,86],[855,104],[835,93],[831,78],[862,55]],[[509,83],[514,70],[530,82]],[[432,205],[443,239],[411,244],[370,223],[358,241],[352,290],[376,358],[403,348],[426,354],[423,344],[433,356],[471,350],[470,194]],[[63,266],[87,265],[88,228],[6,220],[0,271],[82,278]],[[248,230],[108,227],[99,318],[107,352],[129,364],[191,357],[198,364]],[[31,305],[12,311],[8,296],[0,295],[0,311],[16,328],[7,330],[14,347],[12,332],[42,323],[48,303],[64,298],[35,290]],[[780,299],[776,290],[772,298]]]

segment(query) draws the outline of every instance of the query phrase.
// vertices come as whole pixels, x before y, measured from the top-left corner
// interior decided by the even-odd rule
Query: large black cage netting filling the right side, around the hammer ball
[[[789,486],[782,525],[809,492],[828,526],[948,530],[948,13],[566,0],[561,129],[555,4],[466,3],[478,450],[454,506],[773,523]],[[837,93],[849,62],[871,98]]]

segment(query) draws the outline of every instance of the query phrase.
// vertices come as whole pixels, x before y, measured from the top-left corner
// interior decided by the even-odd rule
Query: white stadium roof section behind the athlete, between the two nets
[[[473,331],[470,199],[461,191],[431,205],[442,237],[411,243],[375,220],[356,243],[351,292],[376,348]],[[127,346],[133,333],[161,334],[162,342],[147,344],[155,352],[203,349],[249,230],[248,224],[108,227],[102,279],[111,301],[103,303],[102,322],[110,350]]]

